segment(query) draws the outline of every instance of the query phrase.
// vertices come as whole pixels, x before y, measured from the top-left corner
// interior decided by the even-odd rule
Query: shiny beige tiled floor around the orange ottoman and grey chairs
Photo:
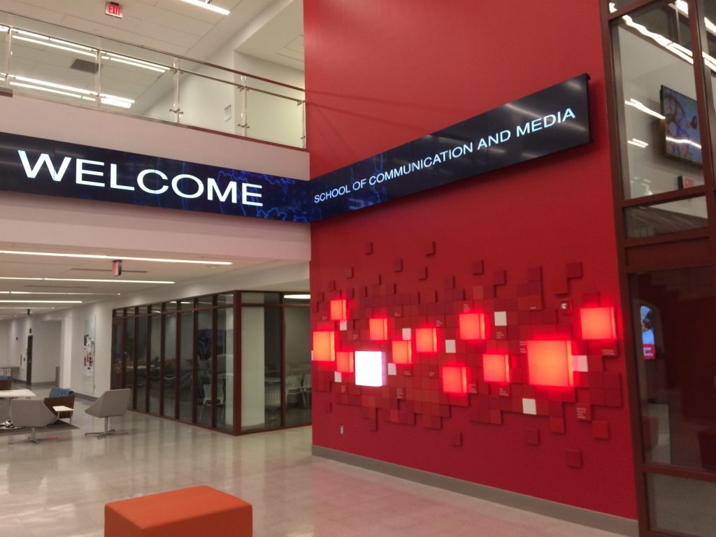
[[[108,501],[200,484],[252,503],[256,537],[614,535],[313,458],[310,427],[231,437],[129,412],[129,435],[97,440],[86,406],[54,442],[0,437],[1,536],[102,536]]]

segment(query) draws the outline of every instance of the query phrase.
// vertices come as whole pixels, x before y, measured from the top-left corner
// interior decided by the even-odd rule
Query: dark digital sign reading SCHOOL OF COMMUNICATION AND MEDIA
[[[311,219],[402,198],[591,142],[589,75],[561,82],[311,181]]]

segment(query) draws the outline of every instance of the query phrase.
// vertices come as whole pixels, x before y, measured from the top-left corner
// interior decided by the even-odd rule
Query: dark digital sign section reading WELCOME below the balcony
[[[0,133],[0,189],[308,221],[305,181]]]

